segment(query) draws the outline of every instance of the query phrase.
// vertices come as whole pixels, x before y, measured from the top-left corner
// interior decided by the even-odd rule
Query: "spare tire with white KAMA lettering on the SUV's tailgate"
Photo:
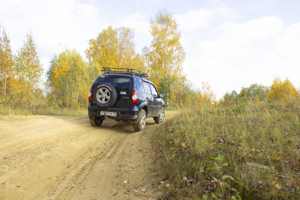
[[[117,91],[112,85],[101,83],[95,91],[93,93],[94,100],[100,108],[109,108],[116,103]]]

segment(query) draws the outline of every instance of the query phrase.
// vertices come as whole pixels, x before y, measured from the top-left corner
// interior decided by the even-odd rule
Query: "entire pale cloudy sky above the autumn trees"
[[[209,82],[217,99],[275,77],[300,88],[299,0],[0,0],[0,20],[17,52],[32,32],[45,72],[65,47],[84,53],[108,26],[135,30],[137,53],[149,47],[149,19],[174,13],[195,88]],[[134,68],[134,66],[133,66]],[[150,78],[151,80],[151,78]]]

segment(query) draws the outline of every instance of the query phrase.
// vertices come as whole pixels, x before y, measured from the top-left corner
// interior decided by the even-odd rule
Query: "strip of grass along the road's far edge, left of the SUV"
[[[0,105],[0,114],[2,115],[63,115],[63,116],[82,116],[88,115],[87,108],[12,108],[6,105]]]

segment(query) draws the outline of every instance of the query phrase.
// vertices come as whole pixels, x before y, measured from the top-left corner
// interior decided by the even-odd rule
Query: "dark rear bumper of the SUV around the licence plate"
[[[99,108],[97,106],[93,106],[92,103],[88,103],[88,117],[95,118],[98,116],[100,118],[105,118],[104,115],[100,115],[100,111],[110,111],[117,112],[116,117],[107,116],[112,119],[120,119],[120,120],[135,120],[138,118],[138,107],[133,106],[131,109],[123,109],[123,108]],[[127,114],[125,114],[127,113]]]

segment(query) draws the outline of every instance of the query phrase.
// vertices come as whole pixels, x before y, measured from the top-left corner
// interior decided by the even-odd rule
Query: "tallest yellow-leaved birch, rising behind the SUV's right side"
[[[159,10],[155,17],[150,19],[149,32],[153,40],[150,47],[143,48],[143,57],[149,68],[151,80],[156,85],[160,85],[161,82],[170,83],[171,85],[166,87],[170,88],[171,93],[178,90],[176,83],[180,82],[185,58],[180,43],[181,33],[177,27],[173,13]],[[173,99],[172,94],[167,91],[167,101],[168,98]]]

